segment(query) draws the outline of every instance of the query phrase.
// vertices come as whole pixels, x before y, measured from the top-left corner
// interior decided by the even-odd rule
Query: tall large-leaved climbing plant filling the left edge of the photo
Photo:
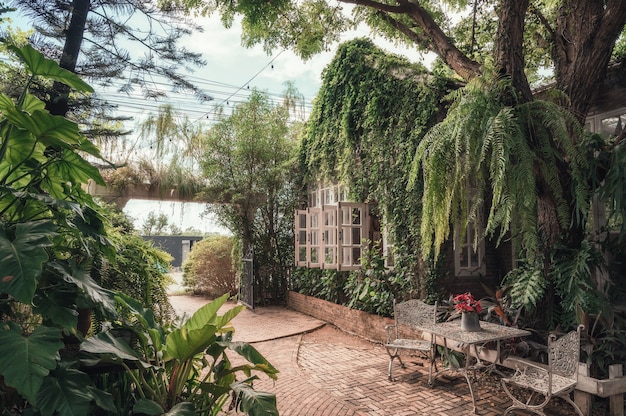
[[[11,410],[26,400],[48,414],[85,411],[101,395],[85,373],[61,361],[60,350],[64,334],[82,337],[80,309],[115,313],[113,293],[91,273],[95,254],[113,259],[113,246],[96,203],[81,187],[88,180],[103,183],[81,156],[99,153],[75,123],[50,115],[28,86],[44,77],[92,90],[30,46],[9,50],[30,78],[16,101],[0,95],[0,374],[18,393],[5,394],[3,405]],[[30,305],[31,319],[21,320],[19,312]],[[84,394],[60,394],[77,386]]]

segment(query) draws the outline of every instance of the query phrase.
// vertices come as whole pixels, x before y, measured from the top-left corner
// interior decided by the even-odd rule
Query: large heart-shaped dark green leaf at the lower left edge
[[[38,326],[28,337],[11,322],[0,325],[0,374],[30,403],[35,403],[44,378],[57,366],[63,348],[61,330]]]

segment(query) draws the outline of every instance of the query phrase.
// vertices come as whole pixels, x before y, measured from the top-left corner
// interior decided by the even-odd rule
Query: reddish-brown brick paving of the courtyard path
[[[177,299],[173,305],[193,309],[194,302],[200,305],[206,301]],[[434,388],[429,388],[428,366],[421,357],[403,356],[406,369],[394,362],[396,380],[391,382],[387,380],[388,356],[381,344],[346,334],[307,315],[282,307],[262,307],[243,311],[233,325],[235,339],[254,345],[280,370],[277,381],[261,375],[254,387],[276,394],[281,416],[472,414],[463,376],[444,374],[436,379]],[[510,401],[499,380],[483,375],[474,386],[476,414],[502,415]],[[546,414],[573,412],[557,403]]]

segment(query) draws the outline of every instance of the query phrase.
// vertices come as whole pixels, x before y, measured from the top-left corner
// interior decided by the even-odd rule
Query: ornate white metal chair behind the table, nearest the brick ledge
[[[408,328],[418,329],[423,325],[428,325],[437,321],[437,303],[428,305],[421,300],[410,299],[406,302],[393,304],[394,324],[385,326],[387,330],[387,342],[385,348],[389,354],[388,378],[393,380],[392,367],[393,360],[398,359],[400,366],[406,368],[400,358],[401,351],[416,351],[424,354],[428,359],[433,359],[433,339],[429,334],[429,339],[400,338],[399,325]]]

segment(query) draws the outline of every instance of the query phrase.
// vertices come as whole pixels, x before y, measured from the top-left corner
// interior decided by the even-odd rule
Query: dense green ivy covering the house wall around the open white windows
[[[371,312],[384,312],[394,296],[434,295],[433,273],[442,272],[418,255],[422,192],[407,184],[417,145],[458,85],[364,39],[343,44],[322,78],[300,148],[303,190],[319,180],[340,182],[354,201],[370,203],[389,227],[396,267],[384,270],[372,252],[368,267],[350,275],[299,270],[296,289],[352,306],[371,301],[364,307]]]

